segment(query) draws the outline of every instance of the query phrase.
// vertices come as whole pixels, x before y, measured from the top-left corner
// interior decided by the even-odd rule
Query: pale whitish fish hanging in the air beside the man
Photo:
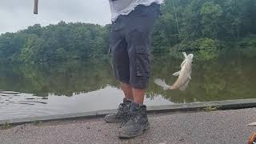
[[[186,54],[185,52],[182,53],[184,56],[184,60],[181,64],[181,70],[174,73],[174,76],[177,76],[178,79],[174,82],[172,86],[166,84],[165,80],[160,78],[155,78],[154,83],[158,86],[162,86],[163,90],[186,90],[187,86],[191,80],[191,73],[192,73],[192,64],[194,54]]]

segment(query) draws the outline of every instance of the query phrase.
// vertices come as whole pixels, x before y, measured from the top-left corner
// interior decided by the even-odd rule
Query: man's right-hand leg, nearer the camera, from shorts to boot
[[[126,42],[130,58],[130,85],[134,102],[130,103],[128,118],[118,131],[119,138],[133,138],[150,127],[146,106],[143,105],[145,90],[150,78],[150,34],[159,6],[138,6],[127,17]]]

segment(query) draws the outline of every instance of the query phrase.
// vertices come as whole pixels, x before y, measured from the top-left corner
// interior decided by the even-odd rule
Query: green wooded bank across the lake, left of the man
[[[0,60],[34,63],[106,54],[110,26],[59,22],[0,37]]]

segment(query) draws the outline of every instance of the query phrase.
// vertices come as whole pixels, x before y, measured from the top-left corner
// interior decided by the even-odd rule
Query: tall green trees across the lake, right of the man
[[[256,9],[253,6],[256,6],[253,0],[175,0],[174,5],[171,0],[166,0],[162,5],[162,16],[155,24],[153,50],[156,53],[170,49],[198,50],[198,44],[201,45],[207,38],[214,41],[218,48],[224,47],[223,42],[224,45],[238,43],[256,33]],[[202,55],[214,51],[201,46]]]

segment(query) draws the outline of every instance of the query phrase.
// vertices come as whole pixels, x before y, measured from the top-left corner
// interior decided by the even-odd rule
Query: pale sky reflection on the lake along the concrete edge
[[[26,98],[35,98],[40,103],[28,102]],[[42,104],[42,102],[47,102],[47,104]],[[20,97],[14,99],[14,103],[0,103],[0,120],[109,110],[117,108],[119,102],[122,102],[122,90],[113,86],[106,86],[88,93],[73,94],[72,97],[50,94],[48,99],[44,100],[32,94],[21,94]],[[154,106],[156,103],[158,105],[173,104],[162,97],[155,97],[154,100],[146,98],[148,106]]]

